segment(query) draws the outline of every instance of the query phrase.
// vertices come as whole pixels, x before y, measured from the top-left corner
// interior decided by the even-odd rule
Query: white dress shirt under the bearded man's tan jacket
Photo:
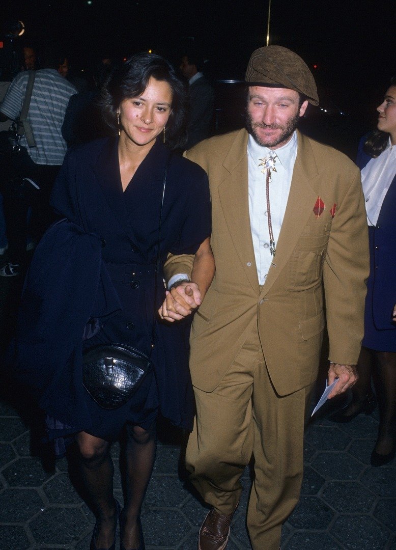
[[[257,276],[260,284],[265,283],[268,270],[273,257],[270,252],[270,232],[268,230],[267,199],[266,199],[266,174],[262,173],[263,167],[259,166],[260,159],[271,152],[268,147],[258,145],[252,136],[248,140],[248,178],[249,178],[249,215],[250,228],[253,239],[253,248],[257,267]],[[297,155],[297,134],[293,133],[287,144],[274,150],[277,155],[275,167],[270,182],[270,207],[272,219],[272,231],[277,245],[281,232],[286,204],[289,197],[290,184],[294,163]]]

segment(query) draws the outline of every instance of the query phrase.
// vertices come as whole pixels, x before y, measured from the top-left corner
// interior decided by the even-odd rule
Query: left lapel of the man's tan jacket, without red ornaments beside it
[[[228,174],[218,187],[227,227],[240,262],[255,292],[259,294],[259,279],[250,229],[248,197],[248,133],[241,130],[224,158]]]

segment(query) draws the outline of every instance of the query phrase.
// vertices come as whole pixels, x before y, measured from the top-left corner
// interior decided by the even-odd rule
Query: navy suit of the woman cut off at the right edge
[[[357,157],[364,168],[370,157]],[[395,167],[396,170],[396,167]],[[377,224],[368,227],[370,276],[365,304],[365,334],[362,345],[376,351],[396,352],[396,323],[392,320],[396,304],[396,175],[382,202]]]

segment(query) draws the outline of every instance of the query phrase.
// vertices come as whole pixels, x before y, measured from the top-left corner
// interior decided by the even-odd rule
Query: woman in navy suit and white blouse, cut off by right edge
[[[357,365],[353,399],[333,419],[349,422],[379,405],[379,429],[371,464],[393,459],[396,450],[396,79],[377,108],[378,131],[364,140],[357,163],[362,168],[370,239],[365,335]]]

